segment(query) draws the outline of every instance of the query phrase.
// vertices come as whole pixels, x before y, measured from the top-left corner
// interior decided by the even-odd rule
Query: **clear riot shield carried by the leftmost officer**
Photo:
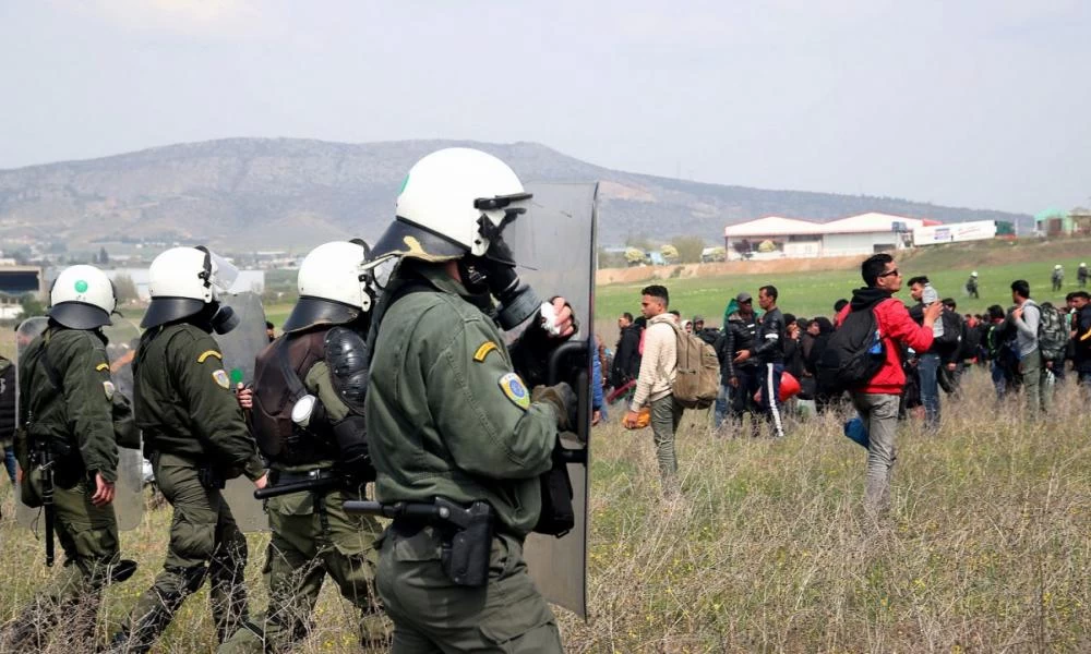
[[[19,326],[16,334],[17,354],[31,344],[46,329],[48,319],[45,317],[29,318]],[[132,358],[136,342],[140,340],[140,328],[129,322],[117,323],[103,329],[109,339],[106,354],[110,361],[110,376],[118,392],[132,400]],[[17,368],[16,368],[17,375]],[[17,383],[17,382],[16,382]],[[15,396],[16,411],[19,395]],[[115,487],[113,511],[120,531],[131,531],[140,525],[144,509],[142,495],[141,470],[143,457],[139,449],[118,448],[118,481]],[[17,489],[16,489],[17,491]],[[39,509],[31,509],[16,504],[16,517],[23,526],[40,532],[43,520],[39,520]]]

